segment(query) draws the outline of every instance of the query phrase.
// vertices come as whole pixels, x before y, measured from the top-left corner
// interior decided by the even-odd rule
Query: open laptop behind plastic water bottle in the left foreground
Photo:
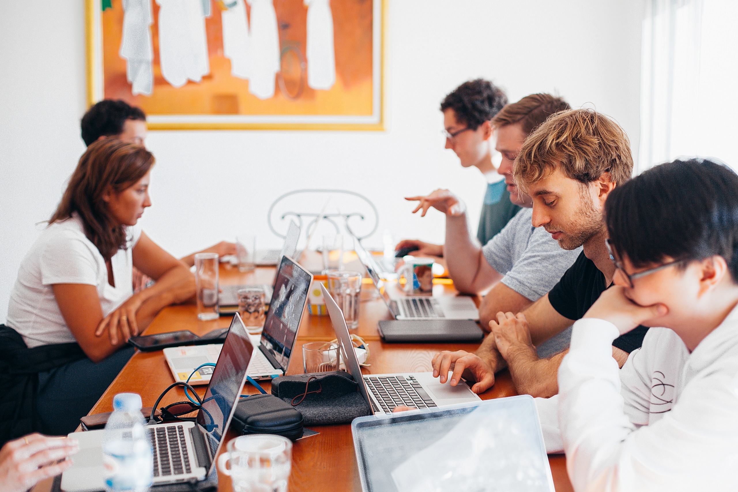
[[[154,450],[154,485],[202,480],[215,471],[215,456],[230,426],[252,353],[254,347],[241,316],[236,314],[197,421],[160,423],[145,428]],[[104,429],[69,434],[79,442],[80,451],[61,477],[62,491],[104,490],[103,432]]]

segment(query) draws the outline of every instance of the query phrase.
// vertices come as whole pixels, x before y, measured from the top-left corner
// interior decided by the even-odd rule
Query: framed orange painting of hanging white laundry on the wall
[[[87,94],[153,130],[384,130],[387,0],[86,0]]]

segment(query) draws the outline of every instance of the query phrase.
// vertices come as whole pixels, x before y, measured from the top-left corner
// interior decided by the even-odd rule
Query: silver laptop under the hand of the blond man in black
[[[433,373],[398,373],[363,375],[356,358],[351,335],[348,333],[346,321],[341,309],[334,301],[328,289],[320,283],[325,298],[325,307],[331,316],[331,324],[336,331],[341,346],[346,369],[354,381],[359,384],[359,391],[370,404],[374,415],[391,413],[399,405],[407,405],[417,409],[434,408],[436,406],[454,405],[480,401],[480,398],[461,381],[456,386],[449,382],[441,384],[433,377]]]

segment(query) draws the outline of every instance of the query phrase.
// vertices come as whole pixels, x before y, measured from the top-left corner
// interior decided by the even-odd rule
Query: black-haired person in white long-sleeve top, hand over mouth
[[[574,324],[559,395],[537,398],[576,491],[738,490],[738,176],[661,164],[605,216],[615,286]],[[613,339],[649,330],[621,370]]]

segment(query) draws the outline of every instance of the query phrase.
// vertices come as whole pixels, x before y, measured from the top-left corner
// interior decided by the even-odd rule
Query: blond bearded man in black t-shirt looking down
[[[605,242],[604,203],[630,179],[632,166],[627,135],[596,111],[562,111],[525,139],[513,178],[533,199],[533,226],[544,228],[562,249],[583,246],[583,251],[559,283],[523,313],[497,312],[489,322],[492,335],[475,354],[460,350],[435,356],[434,375],[441,383],[452,367],[452,386],[463,374],[477,381],[473,391],[483,392],[494,384],[494,373],[507,366],[520,394],[558,392],[556,374],[566,351],[539,358],[535,346],[581,319],[612,284],[615,264]],[[646,330],[638,327],[615,339],[613,358],[619,366],[641,347]]]

